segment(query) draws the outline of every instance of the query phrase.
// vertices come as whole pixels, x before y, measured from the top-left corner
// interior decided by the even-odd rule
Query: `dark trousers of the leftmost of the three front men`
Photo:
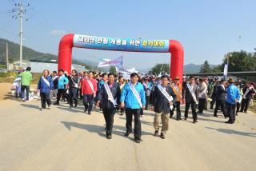
[[[102,112],[106,121],[106,135],[111,135],[114,123],[115,108],[103,108]]]

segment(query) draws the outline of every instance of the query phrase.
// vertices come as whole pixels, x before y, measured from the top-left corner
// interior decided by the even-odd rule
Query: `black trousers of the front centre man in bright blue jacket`
[[[126,108],[126,132],[132,133],[132,121],[134,115],[134,137],[142,136],[142,125],[140,120],[141,109],[129,109]]]

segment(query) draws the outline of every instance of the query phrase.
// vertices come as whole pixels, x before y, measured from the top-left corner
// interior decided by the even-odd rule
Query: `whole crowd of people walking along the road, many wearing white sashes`
[[[29,92],[32,75],[31,68],[19,74],[22,86],[22,101],[24,90]],[[128,137],[132,130],[134,117],[134,141],[142,141],[142,126],[140,117],[143,110],[154,111],[154,136],[166,138],[169,118],[182,120],[181,105],[185,105],[184,119],[189,117],[191,109],[193,123],[198,122],[198,115],[204,113],[210,102],[210,109],[214,109],[214,117],[218,117],[221,110],[223,116],[228,118],[227,124],[234,124],[238,113],[246,113],[255,94],[255,84],[235,82],[233,78],[178,78],[170,79],[167,75],[160,78],[151,75],[142,78],[139,74],[130,74],[130,79],[124,79],[122,74],[96,74],[93,71],[80,72],[72,70],[68,74],[64,70],[44,70],[38,81],[42,109],[50,109],[51,99],[55,97],[54,105],[60,105],[61,99],[66,101],[70,108],[76,108],[78,101],[84,105],[84,113],[89,115],[94,107],[102,110],[106,121],[106,137],[112,138],[114,114],[119,111],[126,114],[126,133]],[[28,93],[26,93],[28,94]],[[162,129],[160,130],[160,124]],[[160,134],[159,134],[160,131]]]

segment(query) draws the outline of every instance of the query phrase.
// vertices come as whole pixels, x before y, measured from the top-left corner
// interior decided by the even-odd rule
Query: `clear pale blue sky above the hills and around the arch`
[[[19,42],[19,19],[6,14],[14,2],[0,0],[0,38]],[[182,43],[185,64],[220,64],[224,54],[256,47],[255,0],[23,0],[24,46],[58,54],[63,35],[110,38],[173,39]],[[26,21],[26,18],[28,20]],[[124,56],[125,68],[151,68],[169,63],[170,54],[73,50],[73,57],[98,62]]]

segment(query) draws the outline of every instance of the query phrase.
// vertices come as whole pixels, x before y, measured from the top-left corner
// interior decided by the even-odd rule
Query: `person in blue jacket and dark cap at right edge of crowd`
[[[235,121],[235,106],[240,98],[240,92],[236,85],[234,85],[234,79],[230,78],[228,81],[228,87],[226,89],[226,108],[227,114],[230,117],[227,124],[234,124]]]

